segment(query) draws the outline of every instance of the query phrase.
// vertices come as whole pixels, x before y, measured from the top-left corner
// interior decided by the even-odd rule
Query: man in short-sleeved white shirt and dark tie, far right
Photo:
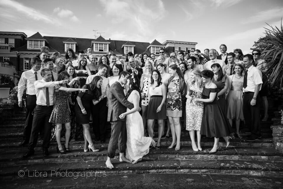
[[[251,129],[251,136],[247,141],[255,141],[261,138],[259,91],[261,90],[262,75],[261,71],[253,65],[252,55],[245,55],[243,62],[247,68],[243,83],[243,113],[246,126]]]

